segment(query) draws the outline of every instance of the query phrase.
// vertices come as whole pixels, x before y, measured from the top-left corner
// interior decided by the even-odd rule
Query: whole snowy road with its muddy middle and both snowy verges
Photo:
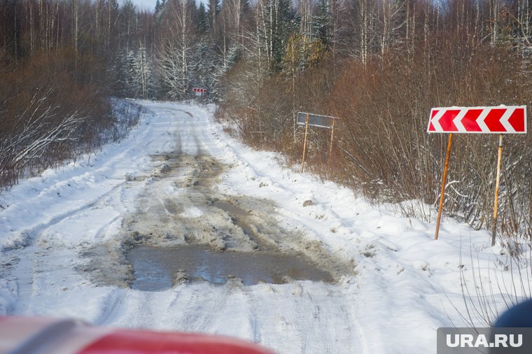
[[[461,269],[501,253],[484,231],[445,220],[435,242],[433,224],[283,167],[226,135],[213,107],[139,103],[127,139],[0,194],[0,315],[227,334],[279,353],[435,353],[437,327],[465,313]],[[239,257],[222,282],[183,266],[148,291],[134,265],[148,248]],[[247,283],[264,264],[275,281]]]

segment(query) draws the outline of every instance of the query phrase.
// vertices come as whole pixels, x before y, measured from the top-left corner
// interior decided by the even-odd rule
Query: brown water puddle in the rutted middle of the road
[[[331,274],[302,255],[274,251],[216,252],[208,246],[178,248],[137,246],[127,259],[133,267],[132,288],[161,291],[183,282],[226,283],[230,279],[243,285],[287,283],[290,280],[334,282]]]

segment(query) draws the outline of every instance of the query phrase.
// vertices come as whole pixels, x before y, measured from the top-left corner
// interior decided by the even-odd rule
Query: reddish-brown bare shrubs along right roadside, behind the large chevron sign
[[[447,146],[445,134],[426,133],[430,108],[532,101],[524,74],[529,64],[511,47],[476,43],[463,33],[436,38],[395,45],[367,62],[324,60],[270,76],[241,62],[225,78],[229,90],[221,116],[230,117],[246,143],[282,151],[296,164],[304,129],[295,126],[295,112],[342,118],[331,156],[329,132],[310,129],[308,169],[430,220],[433,213],[425,206],[437,203]],[[246,78],[253,78],[249,85]],[[505,136],[498,225],[503,234],[532,236],[530,144],[528,136]],[[497,136],[454,139],[444,210],[475,229],[491,226],[496,149]]]

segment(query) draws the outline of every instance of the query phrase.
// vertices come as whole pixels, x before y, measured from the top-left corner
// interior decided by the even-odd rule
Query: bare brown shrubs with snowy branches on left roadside
[[[0,73],[0,188],[120,139],[120,127],[135,123],[116,120],[91,60],[41,53]]]

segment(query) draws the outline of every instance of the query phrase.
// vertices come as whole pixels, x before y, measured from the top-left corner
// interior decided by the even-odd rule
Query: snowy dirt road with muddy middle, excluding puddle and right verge
[[[34,179],[24,201],[8,196],[13,205],[3,213],[3,231],[10,235],[3,239],[1,268],[13,296],[7,312],[228,334],[282,353],[337,353],[339,344],[362,352],[342,288],[353,264],[302,238],[301,227],[281,226],[273,201],[218,190],[230,169],[221,161],[229,141],[217,135],[204,108],[146,108],[144,125],[120,146],[85,166]],[[227,156],[225,162],[235,163]],[[245,219],[237,215],[244,210]],[[134,269],[127,250],[190,243],[308,257],[335,281],[244,286],[231,279],[158,292],[130,288]]]

